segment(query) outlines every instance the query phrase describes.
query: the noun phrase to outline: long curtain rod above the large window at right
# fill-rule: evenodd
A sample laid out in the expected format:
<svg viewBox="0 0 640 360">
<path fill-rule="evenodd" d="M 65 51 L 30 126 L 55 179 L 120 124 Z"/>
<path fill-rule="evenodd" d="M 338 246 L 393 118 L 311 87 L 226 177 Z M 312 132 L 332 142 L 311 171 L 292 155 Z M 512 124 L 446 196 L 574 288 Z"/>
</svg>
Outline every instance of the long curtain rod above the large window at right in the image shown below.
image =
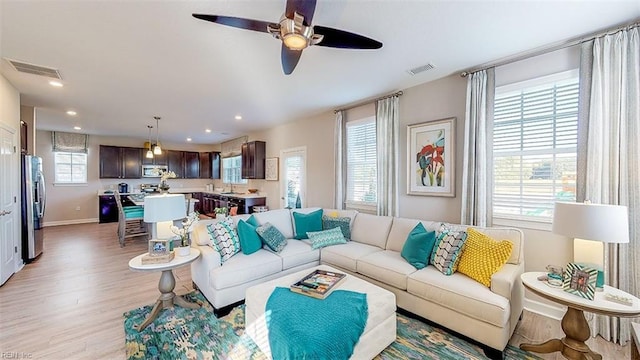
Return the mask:
<svg viewBox="0 0 640 360">
<path fill-rule="evenodd" d="M 542 46 L 542 47 L 538 47 L 535 48 L 533 50 L 530 51 L 526 51 L 520 54 L 516 54 L 513 56 L 508 56 L 502 59 L 498 59 L 496 61 L 493 62 L 489 62 L 486 63 L 484 65 L 480 65 L 478 67 L 475 68 L 471 68 L 470 70 L 466 70 L 460 73 L 460 76 L 462 77 L 467 77 L 469 74 L 473 74 L 476 71 L 480 71 L 480 70 L 486 70 L 492 67 L 498 67 L 498 66 L 502 66 L 502 65 L 507 65 L 516 61 L 520 61 L 520 60 L 524 60 L 524 59 L 528 59 L 534 56 L 538 56 L 538 55 L 542 55 L 542 54 L 546 54 L 552 51 L 556 51 L 556 50 L 560 50 L 560 49 L 564 49 L 570 46 L 574 46 L 574 45 L 578 45 L 580 43 L 583 43 L 585 41 L 590 41 L 593 40 L 595 38 L 601 37 L 601 36 L 605 36 L 605 35 L 609 35 L 609 34 L 613 34 L 616 33 L 620 30 L 630 30 L 633 29 L 634 27 L 640 26 L 640 19 L 636 19 L 626 25 L 622 25 L 622 26 L 618 26 L 616 28 L 613 29 L 609 29 L 606 31 L 599 31 L 596 33 L 591 33 L 587 36 L 581 36 L 578 38 L 573 38 L 567 41 L 561 41 L 561 42 L 557 42 L 551 45 L 547 45 L 547 46 Z"/>
</svg>

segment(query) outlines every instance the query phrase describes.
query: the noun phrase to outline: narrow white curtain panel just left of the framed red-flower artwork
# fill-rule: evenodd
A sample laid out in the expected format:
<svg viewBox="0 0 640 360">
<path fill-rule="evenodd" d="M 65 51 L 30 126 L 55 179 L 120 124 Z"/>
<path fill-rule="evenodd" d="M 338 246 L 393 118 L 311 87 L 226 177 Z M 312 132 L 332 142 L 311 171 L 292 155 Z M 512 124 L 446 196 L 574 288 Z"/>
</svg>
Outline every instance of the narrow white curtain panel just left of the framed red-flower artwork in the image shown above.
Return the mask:
<svg viewBox="0 0 640 360">
<path fill-rule="evenodd" d="M 378 215 L 398 216 L 398 95 L 376 101 Z"/>
</svg>

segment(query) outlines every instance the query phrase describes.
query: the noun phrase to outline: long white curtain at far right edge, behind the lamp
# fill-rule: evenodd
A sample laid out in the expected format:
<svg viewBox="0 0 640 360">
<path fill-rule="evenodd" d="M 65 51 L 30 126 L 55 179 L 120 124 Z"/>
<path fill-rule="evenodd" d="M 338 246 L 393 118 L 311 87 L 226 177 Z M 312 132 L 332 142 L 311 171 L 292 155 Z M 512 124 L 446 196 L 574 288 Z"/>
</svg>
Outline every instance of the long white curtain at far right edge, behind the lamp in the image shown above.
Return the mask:
<svg viewBox="0 0 640 360">
<path fill-rule="evenodd" d="M 585 198 L 629 208 L 629 243 L 605 246 L 605 283 L 640 296 L 638 28 L 594 39 L 592 54 Z M 596 315 L 589 325 L 592 336 L 620 344 L 629 340 L 629 318 Z"/>
</svg>

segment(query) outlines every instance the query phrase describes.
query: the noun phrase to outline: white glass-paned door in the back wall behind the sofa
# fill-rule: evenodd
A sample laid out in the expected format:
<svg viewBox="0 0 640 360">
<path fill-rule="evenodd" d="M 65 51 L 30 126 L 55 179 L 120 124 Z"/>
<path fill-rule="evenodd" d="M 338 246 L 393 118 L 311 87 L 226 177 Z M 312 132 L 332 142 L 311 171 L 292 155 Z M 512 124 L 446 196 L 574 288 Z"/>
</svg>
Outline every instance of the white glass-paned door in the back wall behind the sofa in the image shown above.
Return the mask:
<svg viewBox="0 0 640 360">
<path fill-rule="evenodd" d="M 307 199 L 307 147 L 280 151 L 280 205 L 305 207 Z"/>
</svg>

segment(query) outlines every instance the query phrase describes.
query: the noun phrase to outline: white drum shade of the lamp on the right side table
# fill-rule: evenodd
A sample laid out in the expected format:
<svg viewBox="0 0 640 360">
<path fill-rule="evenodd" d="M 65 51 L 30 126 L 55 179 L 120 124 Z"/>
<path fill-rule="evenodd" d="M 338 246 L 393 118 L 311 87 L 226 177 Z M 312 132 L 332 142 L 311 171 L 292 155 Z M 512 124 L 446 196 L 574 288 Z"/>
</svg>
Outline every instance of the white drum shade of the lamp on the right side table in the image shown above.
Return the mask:
<svg viewBox="0 0 640 360">
<path fill-rule="evenodd" d="M 553 209 L 552 231 L 571 238 L 606 243 L 628 243 L 627 207 L 557 202 Z"/>
</svg>

